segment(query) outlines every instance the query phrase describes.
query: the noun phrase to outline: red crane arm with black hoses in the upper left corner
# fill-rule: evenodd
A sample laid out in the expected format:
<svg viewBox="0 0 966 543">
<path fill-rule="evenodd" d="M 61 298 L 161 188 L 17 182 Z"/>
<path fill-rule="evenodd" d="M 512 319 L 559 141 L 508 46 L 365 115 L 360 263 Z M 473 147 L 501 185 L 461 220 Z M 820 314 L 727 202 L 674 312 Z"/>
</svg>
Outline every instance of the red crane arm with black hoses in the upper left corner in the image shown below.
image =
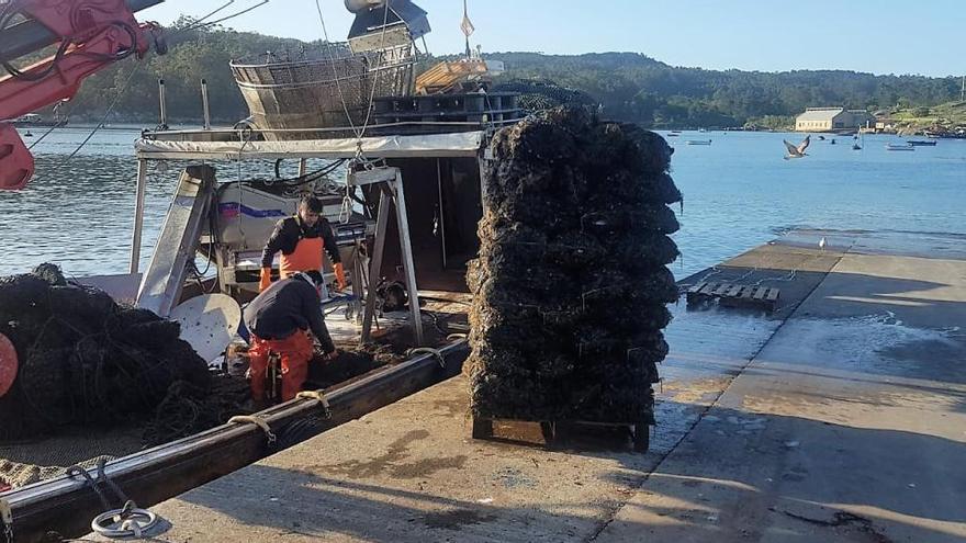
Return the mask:
<svg viewBox="0 0 966 543">
<path fill-rule="evenodd" d="M 162 1 L 0 0 L 0 65 L 7 73 L 0 78 L 0 120 L 69 100 L 85 78 L 128 56 L 143 58 L 151 44 L 165 54 L 160 27 L 134 19 L 134 12 Z M 11 25 L 14 20 L 20 22 Z M 36 64 L 11 64 L 55 44 L 56 53 Z M 0 122 L 0 190 L 24 188 L 33 172 L 20 134 Z"/>
</svg>

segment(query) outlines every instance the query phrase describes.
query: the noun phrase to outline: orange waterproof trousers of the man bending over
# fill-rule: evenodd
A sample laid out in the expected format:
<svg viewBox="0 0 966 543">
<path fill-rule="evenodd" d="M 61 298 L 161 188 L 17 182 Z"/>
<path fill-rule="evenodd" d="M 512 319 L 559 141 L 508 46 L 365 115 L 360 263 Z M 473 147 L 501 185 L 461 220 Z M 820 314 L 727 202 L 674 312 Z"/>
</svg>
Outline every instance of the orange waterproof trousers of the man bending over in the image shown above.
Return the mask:
<svg viewBox="0 0 966 543">
<path fill-rule="evenodd" d="M 313 354 L 312 338 L 304 330 L 297 330 L 285 339 L 266 340 L 252 335 L 251 349 L 248 350 L 251 397 L 259 401 L 265 398 L 269 351 L 274 351 L 282 358 L 282 401 L 288 401 L 299 394 L 308 377 L 308 361 Z"/>
</svg>

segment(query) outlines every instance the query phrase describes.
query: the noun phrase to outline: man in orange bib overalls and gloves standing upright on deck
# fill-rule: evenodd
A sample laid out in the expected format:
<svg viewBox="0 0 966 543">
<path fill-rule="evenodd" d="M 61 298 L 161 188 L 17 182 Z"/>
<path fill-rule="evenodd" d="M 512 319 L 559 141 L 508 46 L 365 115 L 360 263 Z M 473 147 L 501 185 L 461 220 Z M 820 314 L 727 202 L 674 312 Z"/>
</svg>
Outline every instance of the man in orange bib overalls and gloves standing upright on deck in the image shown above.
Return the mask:
<svg viewBox="0 0 966 543">
<path fill-rule="evenodd" d="M 279 278 L 285 279 L 295 272 L 323 270 L 323 252 L 328 252 L 336 272 L 339 290 L 346 287 L 346 272 L 328 220 L 322 216 L 322 201 L 306 195 L 299 203 L 299 213 L 283 218 L 261 251 L 261 278 L 258 290 L 265 291 L 271 284 L 271 265 L 276 253 L 282 251 L 279 262 Z"/>
</svg>

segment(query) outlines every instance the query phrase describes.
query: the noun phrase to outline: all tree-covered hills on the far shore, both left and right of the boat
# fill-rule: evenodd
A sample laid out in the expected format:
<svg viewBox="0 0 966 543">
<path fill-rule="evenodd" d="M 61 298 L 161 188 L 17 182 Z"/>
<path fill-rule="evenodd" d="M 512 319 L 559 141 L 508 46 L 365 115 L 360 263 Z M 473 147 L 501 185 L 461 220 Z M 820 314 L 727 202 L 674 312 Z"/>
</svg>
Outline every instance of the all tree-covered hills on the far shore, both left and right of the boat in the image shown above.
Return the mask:
<svg viewBox="0 0 966 543">
<path fill-rule="evenodd" d="M 168 31 L 170 52 L 142 63 L 119 63 L 85 83 L 68 106 L 74 118 L 96 120 L 115 102 L 110 121 L 157 120 L 157 80 L 167 83 L 169 117 L 199 122 L 200 81 L 209 82 L 212 116 L 222 123 L 248 115 L 228 63 L 251 54 L 311 46 L 296 39 L 194 29 L 182 18 Z M 889 110 L 928 108 L 957 100 L 956 78 L 873 76 L 853 71 L 715 71 L 679 68 L 633 53 L 577 56 L 496 53 L 487 58 L 506 64 L 507 79 L 535 78 L 581 90 L 602 104 L 609 118 L 651 127 L 778 127 L 808 106 L 845 105 Z M 424 58 L 429 66 L 437 58 Z"/>
</svg>

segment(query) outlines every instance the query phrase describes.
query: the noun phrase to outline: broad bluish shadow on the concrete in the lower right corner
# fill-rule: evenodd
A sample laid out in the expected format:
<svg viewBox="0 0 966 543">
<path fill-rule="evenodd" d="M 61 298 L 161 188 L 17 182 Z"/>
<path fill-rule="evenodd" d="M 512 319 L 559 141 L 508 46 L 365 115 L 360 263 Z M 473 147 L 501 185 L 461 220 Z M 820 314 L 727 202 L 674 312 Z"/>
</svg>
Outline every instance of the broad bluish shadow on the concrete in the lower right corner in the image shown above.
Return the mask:
<svg viewBox="0 0 966 543">
<path fill-rule="evenodd" d="M 856 541 L 892 541 L 896 530 L 912 534 L 901 541 L 962 541 L 929 524 L 966 532 L 964 457 L 966 443 L 936 435 L 716 407 L 597 541 L 633 531 L 674 541 L 682 524 L 706 532 L 687 541 L 757 541 L 779 524 L 789 540 L 821 529 L 865 535 Z"/>
</svg>

